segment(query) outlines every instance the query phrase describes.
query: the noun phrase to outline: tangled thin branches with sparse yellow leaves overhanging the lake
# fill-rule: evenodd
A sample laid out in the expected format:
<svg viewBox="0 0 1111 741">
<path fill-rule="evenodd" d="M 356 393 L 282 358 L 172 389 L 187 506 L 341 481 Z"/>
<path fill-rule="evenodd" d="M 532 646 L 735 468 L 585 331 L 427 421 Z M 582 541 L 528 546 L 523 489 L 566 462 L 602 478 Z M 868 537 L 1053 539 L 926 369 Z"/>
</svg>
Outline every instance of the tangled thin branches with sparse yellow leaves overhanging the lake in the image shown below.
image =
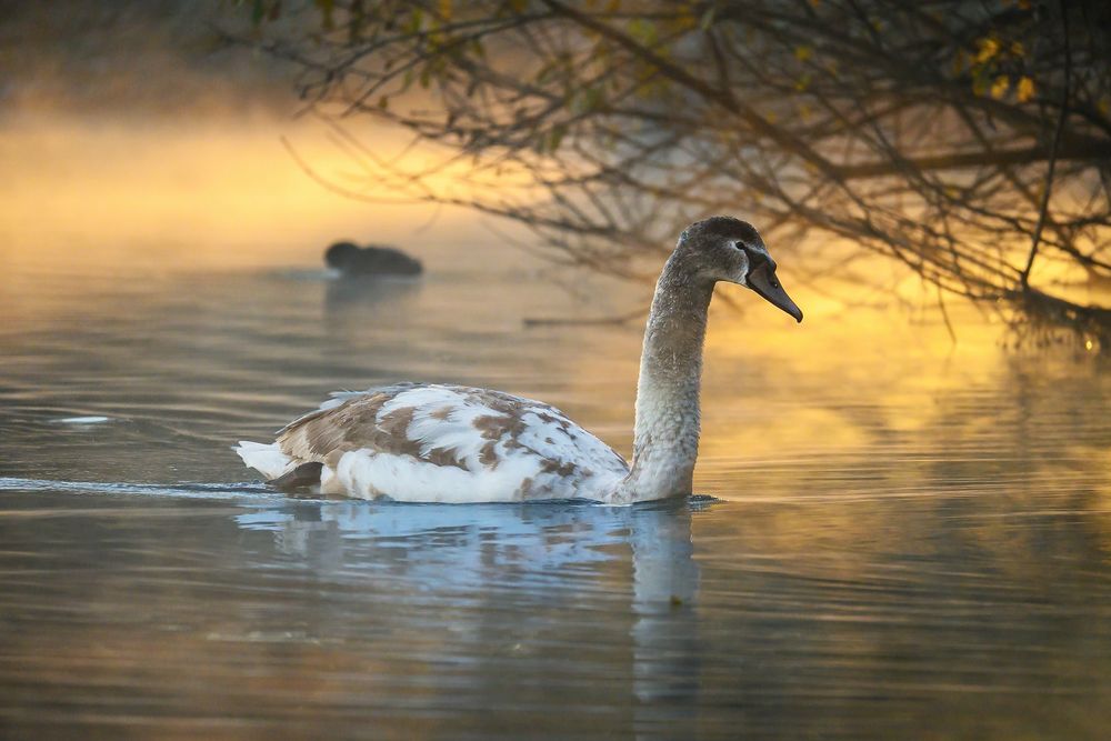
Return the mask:
<svg viewBox="0 0 1111 741">
<path fill-rule="evenodd" d="M 795 272 L 867 250 L 939 297 L 1111 322 L 1051 282 L 1111 279 L 1104 2 L 247 4 L 369 179 L 516 219 L 553 259 L 637 277 L 682 224 L 735 213 L 803 250 Z M 352 114 L 446 161 L 383 161 Z"/>
</svg>

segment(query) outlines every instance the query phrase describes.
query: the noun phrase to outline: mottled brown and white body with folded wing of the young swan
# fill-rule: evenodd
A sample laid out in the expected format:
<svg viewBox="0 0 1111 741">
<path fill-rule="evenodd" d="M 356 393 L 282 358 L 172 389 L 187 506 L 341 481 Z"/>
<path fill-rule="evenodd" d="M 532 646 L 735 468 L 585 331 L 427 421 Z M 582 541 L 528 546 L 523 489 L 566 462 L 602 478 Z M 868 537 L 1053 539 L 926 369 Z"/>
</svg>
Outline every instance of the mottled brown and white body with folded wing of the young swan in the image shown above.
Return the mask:
<svg viewBox="0 0 1111 741">
<path fill-rule="evenodd" d="M 322 483 L 420 501 L 588 497 L 628 472 L 558 409 L 499 391 L 399 384 L 344 394 L 278 435 Z"/>
</svg>

